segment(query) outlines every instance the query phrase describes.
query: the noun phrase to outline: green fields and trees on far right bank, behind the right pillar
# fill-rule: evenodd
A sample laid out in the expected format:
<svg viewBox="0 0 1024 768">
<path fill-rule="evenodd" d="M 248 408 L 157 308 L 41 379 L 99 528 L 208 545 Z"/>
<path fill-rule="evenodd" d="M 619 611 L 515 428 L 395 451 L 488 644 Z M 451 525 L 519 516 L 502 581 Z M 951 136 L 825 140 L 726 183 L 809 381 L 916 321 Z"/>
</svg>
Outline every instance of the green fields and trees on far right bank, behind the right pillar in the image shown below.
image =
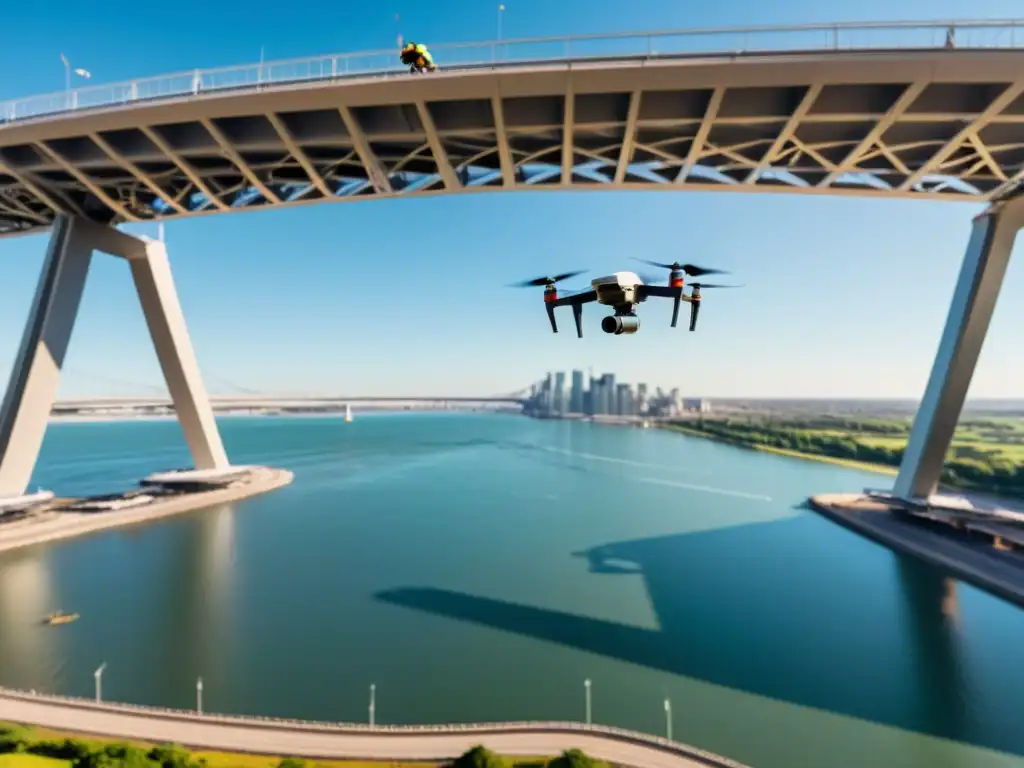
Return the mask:
<svg viewBox="0 0 1024 768">
<path fill-rule="evenodd" d="M 693 419 L 672 422 L 678 431 L 753 449 L 898 467 L 909 419 L 816 416 Z M 942 482 L 950 487 L 1024 498 L 1024 419 L 975 418 L 959 423 L 946 456 Z"/>
</svg>

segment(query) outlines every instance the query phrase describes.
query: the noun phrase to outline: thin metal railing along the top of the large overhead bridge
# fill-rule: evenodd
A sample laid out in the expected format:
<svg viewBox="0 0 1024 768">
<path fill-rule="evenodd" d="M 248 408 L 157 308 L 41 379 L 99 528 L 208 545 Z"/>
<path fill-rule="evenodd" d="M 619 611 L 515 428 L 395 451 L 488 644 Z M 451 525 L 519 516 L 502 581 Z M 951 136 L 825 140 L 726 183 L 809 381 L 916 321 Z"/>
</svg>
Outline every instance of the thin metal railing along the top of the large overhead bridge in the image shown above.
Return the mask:
<svg viewBox="0 0 1024 768">
<path fill-rule="evenodd" d="M 1024 47 L 1024 19 L 880 22 L 667 30 L 613 35 L 522 38 L 430 46 L 442 70 L 593 58 L 748 54 L 819 50 L 912 50 Z M 79 110 L 225 90 L 352 77 L 403 75 L 397 50 L 333 53 L 311 58 L 193 70 L 0 102 L 0 124 Z"/>
</svg>

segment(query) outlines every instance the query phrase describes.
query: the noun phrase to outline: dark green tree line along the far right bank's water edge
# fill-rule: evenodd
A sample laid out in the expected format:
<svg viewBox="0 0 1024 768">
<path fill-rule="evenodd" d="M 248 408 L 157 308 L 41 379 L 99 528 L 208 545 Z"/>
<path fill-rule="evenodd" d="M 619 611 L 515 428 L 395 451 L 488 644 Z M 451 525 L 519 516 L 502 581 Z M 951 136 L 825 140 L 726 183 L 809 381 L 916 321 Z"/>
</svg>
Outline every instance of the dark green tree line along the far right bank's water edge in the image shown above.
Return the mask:
<svg viewBox="0 0 1024 768">
<path fill-rule="evenodd" d="M 830 435 L 804 431 L 809 427 L 803 424 L 812 422 L 779 424 L 698 419 L 677 423 L 686 429 L 742 445 L 765 445 L 892 467 L 898 467 L 903 460 L 902 447 L 867 445 L 852 433 Z M 817 428 L 837 429 L 835 426 Z M 943 483 L 999 496 L 1024 497 L 1024 464 L 1012 462 L 995 451 L 983 451 L 971 445 L 956 446 L 951 454 L 942 470 Z"/>
</svg>

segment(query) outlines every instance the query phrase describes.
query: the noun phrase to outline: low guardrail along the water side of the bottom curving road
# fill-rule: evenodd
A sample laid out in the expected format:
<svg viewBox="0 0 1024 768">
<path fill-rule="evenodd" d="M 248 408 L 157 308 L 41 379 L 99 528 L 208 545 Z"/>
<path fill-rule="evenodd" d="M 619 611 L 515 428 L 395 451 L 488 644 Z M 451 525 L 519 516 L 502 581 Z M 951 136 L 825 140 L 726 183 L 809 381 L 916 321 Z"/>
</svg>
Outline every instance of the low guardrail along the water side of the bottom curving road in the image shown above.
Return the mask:
<svg viewBox="0 0 1024 768">
<path fill-rule="evenodd" d="M 743 765 L 723 758 L 720 755 L 698 750 L 695 746 L 672 741 L 663 736 L 640 733 L 613 725 L 594 725 L 589 723 L 573 723 L 564 721 L 519 721 L 505 723 L 439 723 L 424 725 L 368 725 L 365 723 L 330 723 L 316 720 L 298 720 L 291 718 L 275 718 L 264 715 L 200 715 L 190 710 L 177 710 L 170 707 L 148 707 L 122 702 L 98 702 L 77 696 L 67 696 L 57 693 L 37 693 L 11 688 L 0 688 L 0 696 L 7 698 L 48 702 L 80 710 L 110 712 L 112 714 L 127 714 L 138 717 L 164 718 L 185 722 L 220 723 L 223 725 L 245 725 L 249 727 L 273 728 L 280 730 L 305 732 L 333 732 L 358 734 L 391 734 L 391 735 L 429 735 L 447 733 L 515 733 L 515 732 L 580 732 L 607 736 L 621 741 L 644 744 L 685 757 L 698 758 L 709 765 L 719 768 L 745 768 Z"/>
</svg>

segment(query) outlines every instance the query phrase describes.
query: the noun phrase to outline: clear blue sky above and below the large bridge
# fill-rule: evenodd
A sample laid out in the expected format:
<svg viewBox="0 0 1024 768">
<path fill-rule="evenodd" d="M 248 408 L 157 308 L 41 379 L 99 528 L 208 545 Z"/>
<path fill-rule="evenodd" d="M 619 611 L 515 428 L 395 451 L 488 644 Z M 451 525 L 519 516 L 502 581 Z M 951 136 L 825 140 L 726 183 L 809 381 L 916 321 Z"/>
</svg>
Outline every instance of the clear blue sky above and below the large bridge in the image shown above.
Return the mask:
<svg viewBox="0 0 1024 768">
<path fill-rule="evenodd" d="M 505 37 L 1020 14 L 1016 0 L 505 6 Z M 490 39 L 498 15 L 498 3 L 484 0 L 349 1 L 284 15 L 280 3 L 264 2 L 244 11 L 200 2 L 96 7 L 50 0 L 5 9 L 4 26 L 17 35 L 0 47 L 0 98 L 60 90 L 61 52 L 101 83 L 253 61 L 261 46 L 271 59 L 387 47 L 399 31 L 436 43 Z M 918 397 L 979 211 L 796 195 L 547 191 L 204 217 L 170 223 L 167 241 L 215 392 L 489 394 L 548 370 L 593 368 L 707 396 Z M 0 241 L 4 379 L 45 245 L 41 237 Z M 612 338 L 600 332 L 603 311 L 588 307 L 583 340 L 570 313 L 552 335 L 540 294 L 504 288 L 551 271 L 629 268 L 630 256 L 721 266 L 746 288 L 709 291 L 694 334 L 668 328 L 668 304 L 649 302 L 638 335 Z M 1022 299 L 1018 258 L 974 396 L 1024 396 Z M 98 257 L 61 393 L 160 389 L 127 267 Z"/>
</svg>

